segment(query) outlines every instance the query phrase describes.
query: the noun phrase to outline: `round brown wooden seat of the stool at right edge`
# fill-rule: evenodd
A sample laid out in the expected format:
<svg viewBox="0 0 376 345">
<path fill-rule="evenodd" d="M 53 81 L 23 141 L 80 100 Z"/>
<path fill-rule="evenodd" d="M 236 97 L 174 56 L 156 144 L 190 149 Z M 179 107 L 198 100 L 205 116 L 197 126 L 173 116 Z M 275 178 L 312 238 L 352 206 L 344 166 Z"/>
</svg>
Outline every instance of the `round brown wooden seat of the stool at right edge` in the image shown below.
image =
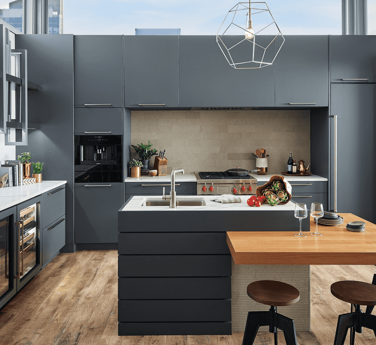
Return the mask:
<svg viewBox="0 0 376 345">
<path fill-rule="evenodd" d="M 330 290 L 341 301 L 356 305 L 376 305 L 376 286 L 364 281 L 336 281 Z"/>
</svg>

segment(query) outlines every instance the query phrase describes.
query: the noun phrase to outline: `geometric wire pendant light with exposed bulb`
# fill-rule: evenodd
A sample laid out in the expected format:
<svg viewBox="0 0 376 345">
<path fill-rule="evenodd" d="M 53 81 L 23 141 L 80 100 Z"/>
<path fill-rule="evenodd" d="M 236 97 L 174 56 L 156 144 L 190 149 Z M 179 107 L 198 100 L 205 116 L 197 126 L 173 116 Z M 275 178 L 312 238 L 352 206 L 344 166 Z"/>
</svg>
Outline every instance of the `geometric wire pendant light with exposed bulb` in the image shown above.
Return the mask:
<svg viewBox="0 0 376 345">
<path fill-rule="evenodd" d="M 233 68 L 273 64 L 285 38 L 266 2 L 240 2 L 227 13 L 217 43 Z"/>
</svg>

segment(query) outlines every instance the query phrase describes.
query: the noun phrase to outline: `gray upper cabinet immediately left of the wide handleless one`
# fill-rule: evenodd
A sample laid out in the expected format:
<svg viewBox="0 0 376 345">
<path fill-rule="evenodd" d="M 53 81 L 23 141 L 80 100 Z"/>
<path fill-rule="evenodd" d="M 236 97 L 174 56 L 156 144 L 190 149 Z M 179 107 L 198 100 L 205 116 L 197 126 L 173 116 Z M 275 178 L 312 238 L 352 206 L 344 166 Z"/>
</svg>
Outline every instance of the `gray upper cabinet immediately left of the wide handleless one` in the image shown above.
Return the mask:
<svg viewBox="0 0 376 345">
<path fill-rule="evenodd" d="M 179 106 L 178 39 L 178 36 L 124 36 L 126 108 Z"/>
</svg>

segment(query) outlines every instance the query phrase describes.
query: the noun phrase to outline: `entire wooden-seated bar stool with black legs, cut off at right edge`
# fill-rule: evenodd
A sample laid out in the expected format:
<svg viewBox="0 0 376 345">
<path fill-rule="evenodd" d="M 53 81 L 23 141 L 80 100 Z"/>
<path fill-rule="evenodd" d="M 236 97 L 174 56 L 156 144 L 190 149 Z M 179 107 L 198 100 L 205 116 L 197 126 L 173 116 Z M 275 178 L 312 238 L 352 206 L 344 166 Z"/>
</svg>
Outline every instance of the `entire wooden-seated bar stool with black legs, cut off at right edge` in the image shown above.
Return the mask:
<svg viewBox="0 0 376 345">
<path fill-rule="evenodd" d="M 375 277 L 373 280 L 375 281 Z M 362 327 L 370 328 L 376 336 L 376 316 L 371 315 L 373 306 L 376 305 L 376 286 L 364 281 L 342 280 L 333 283 L 330 290 L 341 301 L 351 303 L 351 313 L 338 316 L 334 345 L 344 344 L 349 328 L 350 345 L 354 344 L 355 332 L 362 333 Z M 360 309 L 361 305 L 367 305 L 365 313 Z"/>
</svg>

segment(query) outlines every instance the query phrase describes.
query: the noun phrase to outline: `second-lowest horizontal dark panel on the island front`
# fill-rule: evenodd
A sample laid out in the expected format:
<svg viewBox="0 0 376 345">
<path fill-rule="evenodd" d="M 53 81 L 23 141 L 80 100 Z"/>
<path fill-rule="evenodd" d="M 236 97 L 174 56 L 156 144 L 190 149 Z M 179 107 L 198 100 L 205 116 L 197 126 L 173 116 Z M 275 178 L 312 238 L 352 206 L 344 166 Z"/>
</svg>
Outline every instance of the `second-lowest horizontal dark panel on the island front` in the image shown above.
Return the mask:
<svg viewBox="0 0 376 345">
<path fill-rule="evenodd" d="M 118 302 L 119 322 L 231 321 L 230 299 Z"/>
</svg>

